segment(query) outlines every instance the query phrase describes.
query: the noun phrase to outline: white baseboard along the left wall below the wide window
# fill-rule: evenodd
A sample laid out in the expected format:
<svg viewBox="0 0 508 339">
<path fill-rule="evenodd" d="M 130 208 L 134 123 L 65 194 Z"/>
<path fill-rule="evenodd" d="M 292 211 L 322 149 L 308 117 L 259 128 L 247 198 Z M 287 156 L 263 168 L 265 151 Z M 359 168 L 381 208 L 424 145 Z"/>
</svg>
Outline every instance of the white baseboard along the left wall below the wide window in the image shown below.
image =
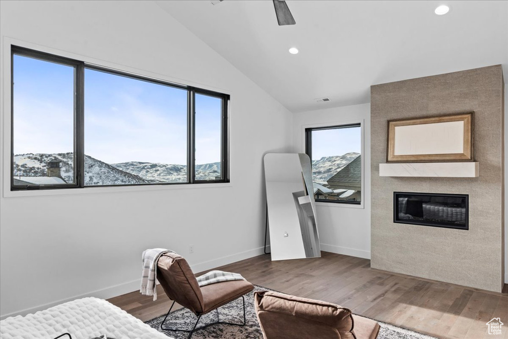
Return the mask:
<svg viewBox="0 0 508 339">
<path fill-rule="evenodd" d="M 269 248 L 269 246 L 267 246 L 267 247 Z M 264 254 L 264 247 L 260 247 L 260 248 L 257 248 L 257 249 L 253 249 L 253 250 L 249 250 L 249 251 L 244 251 L 244 252 L 232 254 L 232 255 L 229 255 L 229 256 L 225 256 L 225 257 L 220 257 L 220 258 L 217 258 L 217 259 L 212 259 L 212 260 L 205 261 L 205 262 L 202 262 L 202 263 L 199 263 L 199 264 L 190 265 L 190 267 L 192 268 L 192 270 L 194 272 L 202 272 L 202 271 L 205 271 L 205 270 L 208 270 L 208 269 L 211 269 L 211 268 L 215 268 L 215 267 L 218 267 L 218 266 L 223 266 L 223 265 L 231 264 L 233 262 L 240 261 L 240 260 L 243 260 L 243 259 L 248 259 L 248 258 L 251 258 L 251 257 L 256 257 L 256 256 L 259 256 L 261 254 Z M 97 290 L 97 291 L 91 291 L 91 292 L 88 292 L 88 293 L 75 295 L 75 296 L 70 297 L 70 298 L 56 300 L 56 301 L 49 302 L 49 303 L 46 303 L 46 304 L 43 304 L 43 305 L 38 305 L 38 306 L 35 306 L 35 307 L 30 307 L 29 309 L 20 310 L 20 311 L 8 313 L 8 314 L 0 315 L 0 320 L 3 320 L 5 318 L 7 318 L 7 317 L 14 317 L 14 316 L 17 316 L 17 315 L 25 316 L 25 315 L 27 315 L 29 313 L 35 313 L 37 311 L 46 310 L 48 307 L 52 307 L 52 306 L 61 304 L 63 302 L 72 301 L 72 300 L 79 299 L 79 298 L 96 297 L 96 298 L 101 298 L 101 299 L 109 299 L 109 298 L 112 298 L 112 297 L 115 297 L 115 296 L 118 296 L 118 295 L 122 295 L 122 294 L 125 294 L 125 293 L 130 293 L 130 292 L 139 290 L 140 283 L 141 283 L 141 279 L 136 279 L 136 280 L 133 280 L 131 282 L 123 283 L 123 284 L 120 284 L 120 285 L 110 286 L 110 287 L 107 287 L 105 289 L 101 289 L 101 290 Z"/>
</svg>

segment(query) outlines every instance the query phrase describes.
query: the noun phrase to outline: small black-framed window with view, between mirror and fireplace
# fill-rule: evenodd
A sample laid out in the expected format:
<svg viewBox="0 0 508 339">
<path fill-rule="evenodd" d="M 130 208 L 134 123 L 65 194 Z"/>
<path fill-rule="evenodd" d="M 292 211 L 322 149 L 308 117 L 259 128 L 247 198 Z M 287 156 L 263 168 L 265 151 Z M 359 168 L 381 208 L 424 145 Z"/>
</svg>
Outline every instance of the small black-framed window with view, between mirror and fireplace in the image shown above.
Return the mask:
<svg viewBox="0 0 508 339">
<path fill-rule="evenodd" d="M 360 124 L 305 129 L 305 152 L 312 164 L 316 201 L 362 202 L 361 149 Z"/>
</svg>

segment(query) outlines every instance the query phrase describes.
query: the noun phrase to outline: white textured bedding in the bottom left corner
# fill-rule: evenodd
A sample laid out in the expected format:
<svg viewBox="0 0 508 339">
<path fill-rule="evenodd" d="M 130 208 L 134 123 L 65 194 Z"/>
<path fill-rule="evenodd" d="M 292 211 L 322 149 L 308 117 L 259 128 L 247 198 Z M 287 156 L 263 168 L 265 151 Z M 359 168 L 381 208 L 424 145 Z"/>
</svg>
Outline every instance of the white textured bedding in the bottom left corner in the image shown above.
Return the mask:
<svg viewBox="0 0 508 339">
<path fill-rule="evenodd" d="M 77 299 L 24 317 L 0 321 L 2 339 L 53 339 L 65 332 L 73 339 L 90 339 L 102 334 L 115 339 L 171 339 L 98 298 Z"/>
</svg>

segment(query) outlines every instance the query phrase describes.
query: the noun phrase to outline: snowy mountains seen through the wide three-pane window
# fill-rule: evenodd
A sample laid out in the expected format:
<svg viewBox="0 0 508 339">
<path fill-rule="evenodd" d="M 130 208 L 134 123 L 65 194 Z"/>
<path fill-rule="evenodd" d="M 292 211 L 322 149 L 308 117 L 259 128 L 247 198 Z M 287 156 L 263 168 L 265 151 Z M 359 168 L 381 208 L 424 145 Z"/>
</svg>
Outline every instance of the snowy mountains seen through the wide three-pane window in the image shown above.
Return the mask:
<svg viewBox="0 0 508 339">
<path fill-rule="evenodd" d="M 47 163 L 60 161 L 61 177 L 67 182 L 74 179 L 73 153 L 28 153 L 14 156 L 16 176 L 46 176 Z M 220 163 L 196 165 L 196 179 L 215 179 L 220 176 Z M 85 186 L 142 184 L 156 182 L 186 182 L 187 166 L 126 162 L 106 164 L 85 155 Z"/>
</svg>

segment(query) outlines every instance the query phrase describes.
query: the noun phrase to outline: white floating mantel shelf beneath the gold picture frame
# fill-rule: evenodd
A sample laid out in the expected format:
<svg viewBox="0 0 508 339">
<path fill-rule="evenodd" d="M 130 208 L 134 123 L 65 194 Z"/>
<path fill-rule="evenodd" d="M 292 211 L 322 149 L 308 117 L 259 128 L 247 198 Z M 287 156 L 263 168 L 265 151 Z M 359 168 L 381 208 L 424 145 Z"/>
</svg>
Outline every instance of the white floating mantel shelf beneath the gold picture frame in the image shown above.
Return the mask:
<svg viewBox="0 0 508 339">
<path fill-rule="evenodd" d="M 379 176 L 475 178 L 479 173 L 477 162 L 390 163 L 379 164 Z"/>
</svg>

